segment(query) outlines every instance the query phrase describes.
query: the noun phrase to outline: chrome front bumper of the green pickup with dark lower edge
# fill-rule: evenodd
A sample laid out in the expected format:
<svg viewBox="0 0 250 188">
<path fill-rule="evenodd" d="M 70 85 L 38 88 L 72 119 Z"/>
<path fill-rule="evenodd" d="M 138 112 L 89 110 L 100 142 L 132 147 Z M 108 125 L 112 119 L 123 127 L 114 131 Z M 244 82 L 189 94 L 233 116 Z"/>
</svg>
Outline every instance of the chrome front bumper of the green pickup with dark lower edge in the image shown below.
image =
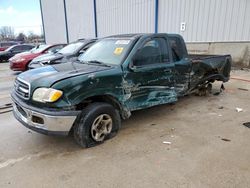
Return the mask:
<svg viewBox="0 0 250 188">
<path fill-rule="evenodd" d="M 13 114 L 25 127 L 46 135 L 67 136 L 79 111 L 30 109 L 13 100 Z"/>
</svg>

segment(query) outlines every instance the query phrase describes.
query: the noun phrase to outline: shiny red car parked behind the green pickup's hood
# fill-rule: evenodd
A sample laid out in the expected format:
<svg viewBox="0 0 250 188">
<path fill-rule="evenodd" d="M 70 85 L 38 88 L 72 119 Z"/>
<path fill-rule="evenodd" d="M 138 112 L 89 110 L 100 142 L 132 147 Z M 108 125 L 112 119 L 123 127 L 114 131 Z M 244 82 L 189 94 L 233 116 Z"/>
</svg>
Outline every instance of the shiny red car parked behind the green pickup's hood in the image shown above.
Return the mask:
<svg viewBox="0 0 250 188">
<path fill-rule="evenodd" d="M 17 54 L 9 59 L 10 69 L 14 71 L 26 71 L 28 70 L 29 63 L 34 58 L 46 53 L 55 53 L 64 46 L 65 44 L 40 45 L 38 48 L 33 48 L 28 52 Z"/>
</svg>

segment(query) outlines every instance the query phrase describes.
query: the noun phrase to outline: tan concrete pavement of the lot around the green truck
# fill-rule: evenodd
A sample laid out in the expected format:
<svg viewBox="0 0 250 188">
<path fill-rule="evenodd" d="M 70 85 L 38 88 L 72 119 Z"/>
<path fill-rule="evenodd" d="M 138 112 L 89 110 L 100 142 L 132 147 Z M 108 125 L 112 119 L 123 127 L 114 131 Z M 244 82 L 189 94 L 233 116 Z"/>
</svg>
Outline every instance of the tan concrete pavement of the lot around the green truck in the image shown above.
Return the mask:
<svg viewBox="0 0 250 188">
<path fill-rule="evenodd" d="M 14 77 L 0 64 L 0 104 Z M 249 187 L 250 72 L 232 77 L 246 80 L 231 79 L 218 96 L 134 112 L 115 138 L 89 149 L 0 114 L 0 187 Z"/>
</svg>

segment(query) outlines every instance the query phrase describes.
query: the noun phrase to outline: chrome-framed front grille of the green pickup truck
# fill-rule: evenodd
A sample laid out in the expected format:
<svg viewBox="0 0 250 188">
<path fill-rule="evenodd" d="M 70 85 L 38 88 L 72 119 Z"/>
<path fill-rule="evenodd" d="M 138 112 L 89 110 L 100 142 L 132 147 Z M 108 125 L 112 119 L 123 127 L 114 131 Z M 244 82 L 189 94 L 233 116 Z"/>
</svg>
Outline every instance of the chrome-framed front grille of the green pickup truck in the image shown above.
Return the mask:
<svg viewBox="0 0 250 188">
<path fill-rule="evenodd" d="M 29 96 L 30 96 L 29 83 L 17 78 L 14 83 L 14 88 L 18 96 L 24 99 L 29 99 Z"/>
</svg>

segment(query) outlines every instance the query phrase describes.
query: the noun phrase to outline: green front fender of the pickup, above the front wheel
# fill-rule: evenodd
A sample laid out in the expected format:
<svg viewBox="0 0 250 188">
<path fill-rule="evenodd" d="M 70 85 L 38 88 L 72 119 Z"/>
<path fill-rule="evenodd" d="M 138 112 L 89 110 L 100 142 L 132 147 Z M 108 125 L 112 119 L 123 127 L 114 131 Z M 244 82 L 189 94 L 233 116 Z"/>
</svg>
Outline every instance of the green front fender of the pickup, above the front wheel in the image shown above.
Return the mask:
<svg viewBox="0 0 250 188">
<path fill-rule="evenodd" d="M 75 77 L 62 80 L 53 88 L 63 90 L 63 98 L 57 102 L 57 107 L 75 106 L 93 96 L 110 95 L 120 103 L 123 99 L 121 86 L 122 76 L 119 72 L 89 74 L 85 77 Z"/>
</svg>

